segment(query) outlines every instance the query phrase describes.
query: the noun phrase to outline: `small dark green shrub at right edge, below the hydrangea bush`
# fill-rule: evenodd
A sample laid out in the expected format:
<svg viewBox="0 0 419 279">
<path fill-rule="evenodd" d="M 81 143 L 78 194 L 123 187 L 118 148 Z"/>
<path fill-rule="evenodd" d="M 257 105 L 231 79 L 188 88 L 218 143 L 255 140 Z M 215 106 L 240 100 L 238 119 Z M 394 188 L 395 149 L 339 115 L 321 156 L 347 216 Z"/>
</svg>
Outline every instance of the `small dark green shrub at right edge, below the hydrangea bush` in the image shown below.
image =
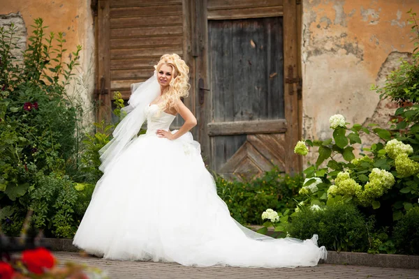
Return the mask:
<svg viewBox="0 0 419 279">
<path fill-rule="evenodd" d="M 393 230 L 397 251 L 419 255 L 419 206 L 414 206 L 399 220 Z"/>
</svg>

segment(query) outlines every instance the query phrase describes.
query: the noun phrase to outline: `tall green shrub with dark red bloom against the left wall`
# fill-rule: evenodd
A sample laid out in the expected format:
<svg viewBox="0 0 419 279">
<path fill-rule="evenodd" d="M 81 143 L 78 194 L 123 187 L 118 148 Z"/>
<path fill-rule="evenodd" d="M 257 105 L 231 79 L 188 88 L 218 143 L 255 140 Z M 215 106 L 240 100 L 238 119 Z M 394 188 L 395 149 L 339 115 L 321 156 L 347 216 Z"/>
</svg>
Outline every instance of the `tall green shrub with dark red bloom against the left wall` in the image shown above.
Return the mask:
<svg viewBox="0 0 419 279">
<path fill-rule="evenodd" d="M 78 66 L 79 52 L 66 54 L 63 33 L 45 36 L 43 20 L 35 20 L 34 35 L 23 61 L 17 49 L 15 27 L 0 28 L 0 199 L 3 206 L 24 196 L 39 171 L 61 172 L 78 156 L 78 120 L 81 104 L 65 87 Z M 54 44 L 56 43 L 56 44 Z M 54 45 L 54 46 L 53 46 Z"/>
</svg>

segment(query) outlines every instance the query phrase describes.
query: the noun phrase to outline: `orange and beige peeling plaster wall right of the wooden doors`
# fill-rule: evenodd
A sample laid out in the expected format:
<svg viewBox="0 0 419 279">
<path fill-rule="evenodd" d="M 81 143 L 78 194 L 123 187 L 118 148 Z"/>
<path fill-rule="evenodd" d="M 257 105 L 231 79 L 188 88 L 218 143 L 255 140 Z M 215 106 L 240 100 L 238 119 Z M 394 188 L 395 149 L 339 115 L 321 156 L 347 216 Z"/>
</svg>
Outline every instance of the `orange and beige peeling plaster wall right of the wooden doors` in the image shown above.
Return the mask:
<svg viewBox="0 0 419 279">
<path fill-rule="evenodd" d="M 395 105 L 370 90 L 413 51 L 408 10 L 418 0 L 304 0 L 303 137 L 331 137 L 329 117 L 385 126 Z M 368 141 L 368 139 L 365 139 Z M 307 162 L 314 157 L 307 156 Z"/>
</svg>

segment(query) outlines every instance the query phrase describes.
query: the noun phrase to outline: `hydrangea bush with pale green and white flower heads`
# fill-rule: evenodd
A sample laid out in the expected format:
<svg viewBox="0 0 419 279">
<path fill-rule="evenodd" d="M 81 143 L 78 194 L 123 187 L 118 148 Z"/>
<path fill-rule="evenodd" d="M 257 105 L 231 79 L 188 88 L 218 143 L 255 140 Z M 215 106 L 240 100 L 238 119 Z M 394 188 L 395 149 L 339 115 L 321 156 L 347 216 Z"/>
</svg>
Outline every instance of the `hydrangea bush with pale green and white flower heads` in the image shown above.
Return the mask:
<svg viewBox="0 0 419 279">
<path fill-rule="evenodd" d="M 333 115 L 331 138 L 305 141 L 308 146 L 318 146 L 318 158 L 315 165 L 304 170 L 306 179 L 300 199 L 311 206 L 352 203 L 371 214 L 390 209 L 392 216 L 388 220 L 399 220 L 406 210 L 418 205 L 419 163 L 415 160 L 419 158 L 419 146 L 408 143 L 416 141 L 416 136 L 406 140 L 399 131 L 374 124 L 349 125 L 344 116 Z M 362 133 L 375 134 L 377 142 L 362 148 L 355 158 L 353 151 L 355 145 L 362 144 Z M 335 159 L 338 154 L 341 160 Z M 381 206 L 385 209 L 379 211 Z"/>
</svg>

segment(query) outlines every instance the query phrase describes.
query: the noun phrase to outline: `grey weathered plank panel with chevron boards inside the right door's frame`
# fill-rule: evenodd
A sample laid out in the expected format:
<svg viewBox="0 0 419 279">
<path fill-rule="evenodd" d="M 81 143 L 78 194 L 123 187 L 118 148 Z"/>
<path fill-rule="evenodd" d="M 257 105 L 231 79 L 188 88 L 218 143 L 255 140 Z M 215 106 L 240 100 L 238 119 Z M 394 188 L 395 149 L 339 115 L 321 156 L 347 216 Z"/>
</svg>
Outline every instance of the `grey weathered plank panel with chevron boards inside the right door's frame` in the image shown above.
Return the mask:
<svg viewBox="0 0 419 279">
<path fill-rule="evenodd" d="M 208 21 L 212 167 L 224 176 L 286 170 L 282 27 L 282 17 Z"/>
</svg>

